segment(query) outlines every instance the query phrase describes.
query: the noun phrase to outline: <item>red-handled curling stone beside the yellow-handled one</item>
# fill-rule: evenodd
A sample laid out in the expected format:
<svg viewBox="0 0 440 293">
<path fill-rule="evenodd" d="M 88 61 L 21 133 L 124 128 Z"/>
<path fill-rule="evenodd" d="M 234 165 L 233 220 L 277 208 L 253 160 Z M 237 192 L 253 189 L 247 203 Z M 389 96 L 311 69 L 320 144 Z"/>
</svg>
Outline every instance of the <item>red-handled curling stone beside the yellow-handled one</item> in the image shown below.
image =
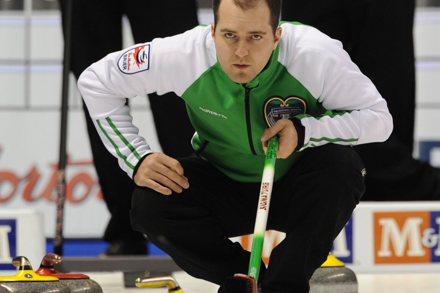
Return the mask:
<svg viewBox="0 0 440 293">
<path fill-rule="evenodd" d="M 53 267 L 61 262 L 61 256 L 55 253 L 44 255 L 40 268 L 35 271 L 42 276 L 52 276 L 60 279 L 71 293 L 102 293 L 101 286 L 83 273 L 60 273 Z"/>
</svg>

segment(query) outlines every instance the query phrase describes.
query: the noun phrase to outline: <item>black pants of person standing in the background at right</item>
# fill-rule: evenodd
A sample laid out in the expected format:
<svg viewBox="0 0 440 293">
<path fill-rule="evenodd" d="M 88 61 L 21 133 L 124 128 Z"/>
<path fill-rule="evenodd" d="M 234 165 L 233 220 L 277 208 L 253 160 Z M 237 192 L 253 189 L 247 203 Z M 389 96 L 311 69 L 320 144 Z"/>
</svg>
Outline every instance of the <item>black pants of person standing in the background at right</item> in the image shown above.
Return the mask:
<svg viewBox="0 0 440 293">
<path fill-rule="evenodd" d="M 282 20 L 312 25 L 341 41 L 387 101 L 394 124 L 390 139 L 355 147 L 368 174 L 363 200 L 440 199 L 439 169 L 412 156 L 414 8 L 414 0 L 283 1 Z"/>
</svg>

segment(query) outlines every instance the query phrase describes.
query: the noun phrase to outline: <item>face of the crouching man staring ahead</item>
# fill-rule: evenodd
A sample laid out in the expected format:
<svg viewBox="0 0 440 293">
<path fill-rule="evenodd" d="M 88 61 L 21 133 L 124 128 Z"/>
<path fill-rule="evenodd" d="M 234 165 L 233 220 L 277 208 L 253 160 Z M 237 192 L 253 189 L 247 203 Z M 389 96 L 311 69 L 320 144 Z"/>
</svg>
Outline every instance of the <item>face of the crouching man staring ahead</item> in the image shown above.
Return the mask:
<svg viewBox="0 0 440 293">
<path fill-rule="evenodd" d="M 232 0 L 222 0 L 215 32 L 214 23 L 211 31 L 221 68 L 241 84 L 252 81 L 263 70 L 281 37 L 280 27 L 273 35 L 265 1 L 242 10 Z"/>
</svg>

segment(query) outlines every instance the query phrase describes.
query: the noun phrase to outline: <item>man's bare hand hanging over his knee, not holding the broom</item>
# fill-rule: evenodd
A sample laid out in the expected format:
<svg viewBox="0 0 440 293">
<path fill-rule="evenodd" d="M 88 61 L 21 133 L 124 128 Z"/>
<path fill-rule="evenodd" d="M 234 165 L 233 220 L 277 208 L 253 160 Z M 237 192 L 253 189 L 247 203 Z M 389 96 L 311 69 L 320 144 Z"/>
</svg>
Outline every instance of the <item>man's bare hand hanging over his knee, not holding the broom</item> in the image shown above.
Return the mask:
<svg viewBox="0 0 440 293">
<path fill-rule="evenodd" d="M 134 182 L 167 195 L 189 188 L 180 163 L 162 153 L 153 153 L 145 158 L 134 176 Z"/>
</svg>

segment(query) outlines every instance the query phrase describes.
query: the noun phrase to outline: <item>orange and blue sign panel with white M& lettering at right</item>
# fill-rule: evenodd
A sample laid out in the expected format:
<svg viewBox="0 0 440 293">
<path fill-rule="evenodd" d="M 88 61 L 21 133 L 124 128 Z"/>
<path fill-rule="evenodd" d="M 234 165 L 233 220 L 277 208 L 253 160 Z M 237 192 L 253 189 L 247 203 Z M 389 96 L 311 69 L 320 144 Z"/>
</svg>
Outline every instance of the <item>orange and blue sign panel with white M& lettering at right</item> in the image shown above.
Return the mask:
<svg viewBox="0 0 440 293">
<path fill-rule="evenodd" d="M 440 211 L 374 213 L 374 263 L 440 262 Z"/>
</svg>

